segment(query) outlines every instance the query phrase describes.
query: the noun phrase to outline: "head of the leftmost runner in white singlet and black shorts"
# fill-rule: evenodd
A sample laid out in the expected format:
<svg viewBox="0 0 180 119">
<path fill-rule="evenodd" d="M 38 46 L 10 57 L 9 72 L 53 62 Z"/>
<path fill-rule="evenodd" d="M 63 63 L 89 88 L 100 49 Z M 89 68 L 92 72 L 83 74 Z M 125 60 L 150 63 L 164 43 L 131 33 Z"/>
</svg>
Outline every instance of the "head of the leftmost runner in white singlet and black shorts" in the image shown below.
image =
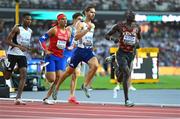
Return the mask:
<svg viewBox="0 0 180 119">
<path fill-rule="evenodd" d="M 29 27 L 32 22 L 31 15 L 29 13 L 24 13 L 22 16 L 22 22 L 23 22 L 23 25 Z"/>
</svg>

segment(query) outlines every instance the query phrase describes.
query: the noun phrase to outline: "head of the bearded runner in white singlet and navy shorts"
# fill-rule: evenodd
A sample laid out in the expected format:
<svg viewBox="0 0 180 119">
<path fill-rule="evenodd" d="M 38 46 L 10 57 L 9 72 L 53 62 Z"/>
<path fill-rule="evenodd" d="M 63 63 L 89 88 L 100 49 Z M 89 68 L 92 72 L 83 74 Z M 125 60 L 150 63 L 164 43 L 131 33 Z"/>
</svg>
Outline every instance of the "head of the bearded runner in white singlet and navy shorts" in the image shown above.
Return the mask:
<svg viewBox="0 0 180 119">
<path fill-rule="evenodd" d="M 93 20 L 96 15 L 96 10 L 94 5 L 89 5 L 83 10 L 83 14 L 90 20 Z"/>
</svg>

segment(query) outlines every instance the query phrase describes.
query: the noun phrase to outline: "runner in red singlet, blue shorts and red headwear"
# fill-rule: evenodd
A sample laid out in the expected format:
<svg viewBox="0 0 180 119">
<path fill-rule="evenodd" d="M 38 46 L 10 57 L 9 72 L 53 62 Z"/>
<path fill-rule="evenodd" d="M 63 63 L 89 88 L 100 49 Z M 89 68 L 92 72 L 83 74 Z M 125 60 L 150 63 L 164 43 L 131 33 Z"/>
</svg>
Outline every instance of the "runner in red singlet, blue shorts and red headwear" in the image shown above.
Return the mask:
<svg viewBox="0 0 180 119">
<path fill-rule="evenodd" d="M 70 32 L 66 29 L 67 18 L 64 14 L 57 16 L 57 23 L 45 35 L 40 37 L 40 44 L 46 54 L 46 78 L 52 83 L 47 96 L 43 99 L 45 104 L 53 104 L 47 99 L 51 96 L 57 81 L 65 70 L 64 65 L 64 49 L 69 45 Z M 49 39 L 49 46 L 46 41 Z"/>
</svg>

